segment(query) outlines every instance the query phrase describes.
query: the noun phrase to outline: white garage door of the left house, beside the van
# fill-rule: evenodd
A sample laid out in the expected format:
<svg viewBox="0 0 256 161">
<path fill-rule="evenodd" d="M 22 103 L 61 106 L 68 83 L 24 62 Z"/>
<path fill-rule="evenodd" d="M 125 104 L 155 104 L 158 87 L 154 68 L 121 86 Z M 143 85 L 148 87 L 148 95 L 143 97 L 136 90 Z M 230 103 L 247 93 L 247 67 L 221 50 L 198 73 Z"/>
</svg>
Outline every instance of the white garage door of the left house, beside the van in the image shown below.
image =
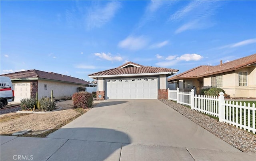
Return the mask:
<svg viewBox="0 0 256 161">
<path fill-rule="evenodd" d="M 20 102 L 22 98 L 30 98 L 30 83 L 13 83 L 14 101 Z"/>
</svg>

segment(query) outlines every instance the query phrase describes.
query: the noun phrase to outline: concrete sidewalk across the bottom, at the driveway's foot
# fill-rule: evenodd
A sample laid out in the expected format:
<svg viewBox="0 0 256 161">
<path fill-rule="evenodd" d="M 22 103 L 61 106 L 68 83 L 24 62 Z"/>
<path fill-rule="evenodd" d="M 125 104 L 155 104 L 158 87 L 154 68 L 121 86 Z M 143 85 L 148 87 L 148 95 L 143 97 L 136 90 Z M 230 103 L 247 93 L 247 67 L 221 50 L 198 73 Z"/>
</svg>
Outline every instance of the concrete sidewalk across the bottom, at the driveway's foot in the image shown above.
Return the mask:
<svg viewBox="0 0 256 161">
<path fill-rule="evenodd" d="M 52 139 L 0 136 L 1 161 L 255 161 L 256 154 L 239 151 L 220 151 L 157 145 L 137 145 Z"/>
</svg>

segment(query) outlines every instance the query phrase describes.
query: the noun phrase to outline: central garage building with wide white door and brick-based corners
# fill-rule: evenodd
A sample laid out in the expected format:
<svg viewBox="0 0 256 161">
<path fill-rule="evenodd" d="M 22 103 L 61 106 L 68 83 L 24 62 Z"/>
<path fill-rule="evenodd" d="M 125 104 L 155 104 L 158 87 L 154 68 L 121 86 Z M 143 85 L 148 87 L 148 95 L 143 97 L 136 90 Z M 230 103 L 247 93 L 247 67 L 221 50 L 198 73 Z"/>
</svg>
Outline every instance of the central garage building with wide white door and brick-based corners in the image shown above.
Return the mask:
<svg viewBox="0 0 256 161">
<path fill-rule="evenodd" d="M 167 77 L 178 70 L 128 62 L 118 68 L 89 74 L 97 81 L 97 99 L 167 98 Z"/>
</svg>

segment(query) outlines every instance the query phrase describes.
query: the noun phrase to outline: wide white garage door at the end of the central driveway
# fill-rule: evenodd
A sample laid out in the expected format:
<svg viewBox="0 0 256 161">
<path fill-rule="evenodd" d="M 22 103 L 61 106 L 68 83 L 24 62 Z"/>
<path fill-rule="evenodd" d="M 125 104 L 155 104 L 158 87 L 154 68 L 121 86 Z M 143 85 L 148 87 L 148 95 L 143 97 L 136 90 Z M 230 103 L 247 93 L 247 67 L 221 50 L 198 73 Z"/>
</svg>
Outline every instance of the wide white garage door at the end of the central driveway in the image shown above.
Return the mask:
<svg viewBox="0 0 256 161">
<path fill-rule="evenodd" d="M 105 99 L 157 99 L 157 78 L 106 80 Z"/>
</svg>

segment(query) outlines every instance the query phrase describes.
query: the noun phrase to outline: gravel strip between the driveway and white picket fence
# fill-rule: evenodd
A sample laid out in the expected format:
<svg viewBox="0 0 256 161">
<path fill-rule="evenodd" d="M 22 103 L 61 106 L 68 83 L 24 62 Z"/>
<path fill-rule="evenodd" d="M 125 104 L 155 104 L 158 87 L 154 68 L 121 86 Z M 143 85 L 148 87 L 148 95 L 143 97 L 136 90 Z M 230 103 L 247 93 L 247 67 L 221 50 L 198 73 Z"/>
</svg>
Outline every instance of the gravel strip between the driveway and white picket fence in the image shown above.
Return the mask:
<svg viewBox="0 0 256 161">
<path fill-rule="evenodd" d="M 160 101 L 237 149 L 248 153 L 256 153 L 256 135 L 244 131 L 243 129 L 236 128 L 233 125 L 219 122 L 217 119 L 211 118 L 198 111 L 191 110 L 190 108 L 173 101 L 166 99 Z"/>
</svg>

